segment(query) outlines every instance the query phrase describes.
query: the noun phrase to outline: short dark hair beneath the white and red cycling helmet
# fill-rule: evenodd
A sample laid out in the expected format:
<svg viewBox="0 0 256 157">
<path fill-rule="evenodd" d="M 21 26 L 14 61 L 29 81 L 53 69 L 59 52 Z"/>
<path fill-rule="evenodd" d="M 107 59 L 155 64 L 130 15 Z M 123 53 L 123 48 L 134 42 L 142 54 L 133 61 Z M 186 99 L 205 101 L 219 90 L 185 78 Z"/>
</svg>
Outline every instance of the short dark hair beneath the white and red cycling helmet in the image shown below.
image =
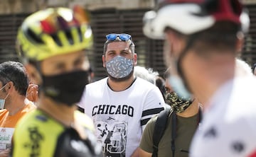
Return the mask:
<svg viewBox="0 0 256 157">
<path fill-rule="evenodd" d="M 176 30 L 166 28 L 166 31 L 168 30 L 171 30 L 178 37 L 181 37 L 186 41 L 193 38 L 193 43 L 189 49 L 194 50 L 197 54 L 204 56 L 207 55 L 208 52 L 227 51 L 235 53 L 235 45 L 238 40 L 240 25 L 229 21 L 220 21 L 215 23 L 211 28 L 193 35 L 183 35 Z"/>
</svg>

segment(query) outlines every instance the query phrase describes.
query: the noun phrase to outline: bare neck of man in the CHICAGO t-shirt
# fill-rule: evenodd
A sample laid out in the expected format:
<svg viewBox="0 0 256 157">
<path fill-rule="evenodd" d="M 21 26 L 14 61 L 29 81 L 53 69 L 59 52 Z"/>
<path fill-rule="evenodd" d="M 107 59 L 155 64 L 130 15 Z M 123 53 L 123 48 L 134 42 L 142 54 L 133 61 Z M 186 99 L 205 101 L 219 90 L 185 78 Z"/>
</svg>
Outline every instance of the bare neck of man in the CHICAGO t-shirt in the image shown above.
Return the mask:
<svg viewBox="0 0 256 157">
<path fill-rule="evenodd" d="M 107 79 L 107 83 L 113 91 L 124 91 L 132 85 L 134 81 L 134 75 L 125 81 L 112 81 L 110 78 Z"/>
</svg>

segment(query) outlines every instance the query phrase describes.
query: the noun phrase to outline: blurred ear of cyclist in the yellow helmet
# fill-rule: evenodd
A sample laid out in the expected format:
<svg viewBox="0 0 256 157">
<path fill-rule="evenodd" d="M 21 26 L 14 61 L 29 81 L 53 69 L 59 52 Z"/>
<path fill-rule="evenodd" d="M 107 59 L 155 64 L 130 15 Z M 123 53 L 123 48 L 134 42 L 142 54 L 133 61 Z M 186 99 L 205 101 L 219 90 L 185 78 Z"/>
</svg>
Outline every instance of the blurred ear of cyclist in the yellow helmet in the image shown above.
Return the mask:
<svg viewBox="0 0 256 157">
<path fill-rule="evenodd" d="M 38 69 L 36 69 L 36 67 L 33 66 L 32 64 L 26 64 L 25 68 L 28 73 L 28 79 L 31 82 L 40 85 L 42 83 L 42 78 L 41 78 L 41 74 L 39 73 Z"/>
</svg>

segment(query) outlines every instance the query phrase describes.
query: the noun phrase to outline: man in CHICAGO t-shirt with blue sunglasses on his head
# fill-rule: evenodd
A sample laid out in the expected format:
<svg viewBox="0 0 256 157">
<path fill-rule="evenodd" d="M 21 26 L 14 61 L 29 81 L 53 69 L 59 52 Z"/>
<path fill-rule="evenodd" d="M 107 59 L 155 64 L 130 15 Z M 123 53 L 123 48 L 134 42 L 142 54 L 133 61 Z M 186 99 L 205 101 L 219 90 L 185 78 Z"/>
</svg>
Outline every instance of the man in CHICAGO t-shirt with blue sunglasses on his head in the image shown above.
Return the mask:
<svg viewBox="0 0 256 157">
<path fill-rule="evenodd" d="M 95 122 L 105 156 L 139 156 L 146 122 L 164 110 L 164 98 L 154 84 L 134 76 L 131 35 L 106 37 L 102 62 L 108 77 L 88 84 L 79 105 Z"/>
</svg>

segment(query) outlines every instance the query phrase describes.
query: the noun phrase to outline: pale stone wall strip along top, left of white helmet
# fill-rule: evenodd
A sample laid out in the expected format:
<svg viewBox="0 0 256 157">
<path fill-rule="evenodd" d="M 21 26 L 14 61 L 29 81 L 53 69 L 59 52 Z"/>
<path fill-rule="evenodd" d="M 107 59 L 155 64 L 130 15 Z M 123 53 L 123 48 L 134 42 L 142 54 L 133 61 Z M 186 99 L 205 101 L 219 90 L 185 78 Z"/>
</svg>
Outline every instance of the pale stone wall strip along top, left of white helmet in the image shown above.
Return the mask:
<svg viewBox="0 0 256 157">
<path fill-rule="evenodd" d="M 75 4 L 90 10 L 97 8 L 152 8 L 154 0 L 1 0 L 0 14 L 31 13 L 50 6 L 72 7 Z"/>
</svg>

